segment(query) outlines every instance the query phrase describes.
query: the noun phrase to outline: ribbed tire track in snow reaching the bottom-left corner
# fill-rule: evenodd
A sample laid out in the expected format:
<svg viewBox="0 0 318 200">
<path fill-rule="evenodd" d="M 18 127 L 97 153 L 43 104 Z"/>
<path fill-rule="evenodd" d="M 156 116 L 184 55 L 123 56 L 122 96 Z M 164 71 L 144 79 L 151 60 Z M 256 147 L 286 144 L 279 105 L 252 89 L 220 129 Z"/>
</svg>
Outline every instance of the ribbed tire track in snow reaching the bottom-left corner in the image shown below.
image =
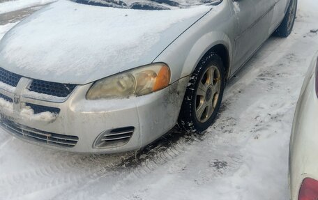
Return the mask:
<svg viewBox="0 0 318 200">
<path fill-rule="evenodd" d="M 74 161 L 80 162 L 79 166 L 81 167 L 78 168 Z M 15 199 L 23 197 L 31 191 L 47 190 L 47 188 L 59 185 L 80 185 L 86 180 L 98 178 L 100 173 L 105 171 L 105 168 L 100 165 L 95 168 L 87 166 L 87 162 L 90 160 L 76 159 L 1 176 L 0 188 L 2 192 L 0 192 L 0 196 L 7 197 L 6 199 Z M 22 185 L 23 187 L 21 187 Z M 20 190 L 16 192 L 10 190 L 12 188 L 20 188 Z"/>
</svg>

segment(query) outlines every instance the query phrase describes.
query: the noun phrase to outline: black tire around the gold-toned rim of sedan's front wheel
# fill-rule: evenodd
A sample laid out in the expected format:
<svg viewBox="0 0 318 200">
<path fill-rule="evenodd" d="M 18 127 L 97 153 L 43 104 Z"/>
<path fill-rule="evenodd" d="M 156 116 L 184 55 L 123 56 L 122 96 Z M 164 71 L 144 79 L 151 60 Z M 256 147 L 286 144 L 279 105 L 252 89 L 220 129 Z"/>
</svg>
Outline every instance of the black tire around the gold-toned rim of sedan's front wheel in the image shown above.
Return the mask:
<svg viewBox="0 0 318 200">
<path fill-rule="evenodd" d="M 200 104 L 200 102 L 198 103 L 197 93 L 198 93 L 200 82 L 203 83 L 204 76 L 205 77 L 208 76 L 207 70 L 209 70 L 211 68 L 213 68 L 213 72 L 210 72 L 210 74 L 213 73 L 213 81 L 212 82 L 215 82 L 215 78 L 214 78 L 215 75 L 214 74 L 217 73 L 216 68 L 219 71 L 220 78 L 218 78 L 218 80 L 220 79 L 220 82 L 218 82 L 218 83 L 215 82 L 215 88 L 216 88 L 216 85 L 220 84 L 220 86 L 218 86 L 220 91 L 218 92 L 218 100 L 215 100 L 216 93 L 215 93 L 214 89 L 213 89 L 213 92 L 211 92 L 214 94 L 209 95 L 210 98 L 213 98 L 212 100 L 210 99 L 211 106 L 213 105 L 211 107 L 211 108 L 213 108 L 213 111 L 208 111 L 211 108 L 206 107 L 206 109 L 207 109 L 206 115 L 207 115 L 207 113 L 209 113 L 209 114 L 212 113 L 212 114 L 210 117 L 206 116 L 206 119 L 204 119 L 204 122 L 202 122 L 202 119 L 199 119 L 197 117 L 197 106 Z M 207 82 L 207 81 L 205 80 L 205 82 Z M 211 82 L 211 80 L 209 82 Z M 206 83 L 204 83 L 204 85 L 206 85 Z M 202 84 L 200 86 L 202 86 Z M 214 87 L 213 83 L 209 86 Z M 206 86 L 206 88 L 208 88 L 207 90 L 209 90 L 209 86 Z M 197 65 L 197 68 L 195 68 L 195 71 L 191 75 L 190 82 L 189 82 L 188 87 L 185 91 L 183 104 L 181 106 L 181 111 L 179 114 L 179 121 L 178 121 L 179 127 L 187 132 L 197 132 L 197 133 L 200 133 L 200 132 L 206 130 L 207 128 L 209 128 L 209 126 L 215 120 L 215 118 L 218 114 L 218 110 L 220 109 L 220 104 L 222 101 L 224 89 L 225 89 L 225 68 L 224 68 L 224 65 L 222 63 L 222 59 L 220 58 L 220 56 L 218 56 L 218 54 L 210 53 L 210 54 L 204 56 L 204 58 L 199 62 L 199 64 Z M 201 92 L 201 91 L 202 90 L 200 90 L 199 92 Z M 199 98 L 201 98 L 201 97 L 202 96 L 199 96 Z M 206 91 L 206 95 L 204 96 L 204 100 L 206 100 L 207 98 L 208 98 L 208 91 Z M 206 100 L 206 105 L 210 104 L 209 103 L 210 100 Z M 203 116 L 203 114 L 202 114 L 202 116 Z"/>
</svg>

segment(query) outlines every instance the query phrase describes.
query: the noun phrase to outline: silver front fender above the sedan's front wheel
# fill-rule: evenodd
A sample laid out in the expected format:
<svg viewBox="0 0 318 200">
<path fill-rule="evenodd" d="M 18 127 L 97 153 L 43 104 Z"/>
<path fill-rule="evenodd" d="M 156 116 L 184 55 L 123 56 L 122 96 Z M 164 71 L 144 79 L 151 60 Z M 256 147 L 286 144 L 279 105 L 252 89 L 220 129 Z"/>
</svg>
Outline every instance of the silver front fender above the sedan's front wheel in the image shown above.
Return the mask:
<svg viewBox="0 0 318 200">
<path fill-rule="evenodd" d="M 209 49 L 224 45 L 231 66 L 234 23 L 228 1 L 222 1 L 176 38 L 153 62 L 168 64 L 173 83 L 190 75 Z"/>
</svg>

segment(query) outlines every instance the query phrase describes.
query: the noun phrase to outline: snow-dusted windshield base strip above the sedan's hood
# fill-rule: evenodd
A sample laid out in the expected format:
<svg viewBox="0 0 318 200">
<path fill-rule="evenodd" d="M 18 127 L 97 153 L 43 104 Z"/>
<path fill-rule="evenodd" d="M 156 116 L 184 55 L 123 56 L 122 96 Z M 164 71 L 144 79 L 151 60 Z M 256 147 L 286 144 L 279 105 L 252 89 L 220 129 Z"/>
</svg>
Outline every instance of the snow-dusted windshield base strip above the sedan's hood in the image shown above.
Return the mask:
<svg viewBox="0 0 318 200">
<path fill-rule="evenodd" d="M 93 6 L 114 8 L 130 8 L 140 10 L 169 10 L 175 8 L 189 8 L 190 6 L 214 5 L 222 0 L 71 0 Z"/>
</svg>

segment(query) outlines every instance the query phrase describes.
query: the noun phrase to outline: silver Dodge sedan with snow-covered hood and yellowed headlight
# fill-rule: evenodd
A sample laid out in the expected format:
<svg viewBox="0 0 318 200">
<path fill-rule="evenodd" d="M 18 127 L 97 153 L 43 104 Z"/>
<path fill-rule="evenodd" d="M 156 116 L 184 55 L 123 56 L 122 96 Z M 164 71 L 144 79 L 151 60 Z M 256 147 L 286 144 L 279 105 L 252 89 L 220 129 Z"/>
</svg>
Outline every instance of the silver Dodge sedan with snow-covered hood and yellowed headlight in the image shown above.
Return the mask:
<svg viewBox="0 0 318 200">
<path fill-rule="evenodd" d="M 0 43 L 1 127 L 52 148 L 132 151 L 174 128 L 202 132 L 227 80 L 297 0 L 60 0 Z"/>
</svg>

